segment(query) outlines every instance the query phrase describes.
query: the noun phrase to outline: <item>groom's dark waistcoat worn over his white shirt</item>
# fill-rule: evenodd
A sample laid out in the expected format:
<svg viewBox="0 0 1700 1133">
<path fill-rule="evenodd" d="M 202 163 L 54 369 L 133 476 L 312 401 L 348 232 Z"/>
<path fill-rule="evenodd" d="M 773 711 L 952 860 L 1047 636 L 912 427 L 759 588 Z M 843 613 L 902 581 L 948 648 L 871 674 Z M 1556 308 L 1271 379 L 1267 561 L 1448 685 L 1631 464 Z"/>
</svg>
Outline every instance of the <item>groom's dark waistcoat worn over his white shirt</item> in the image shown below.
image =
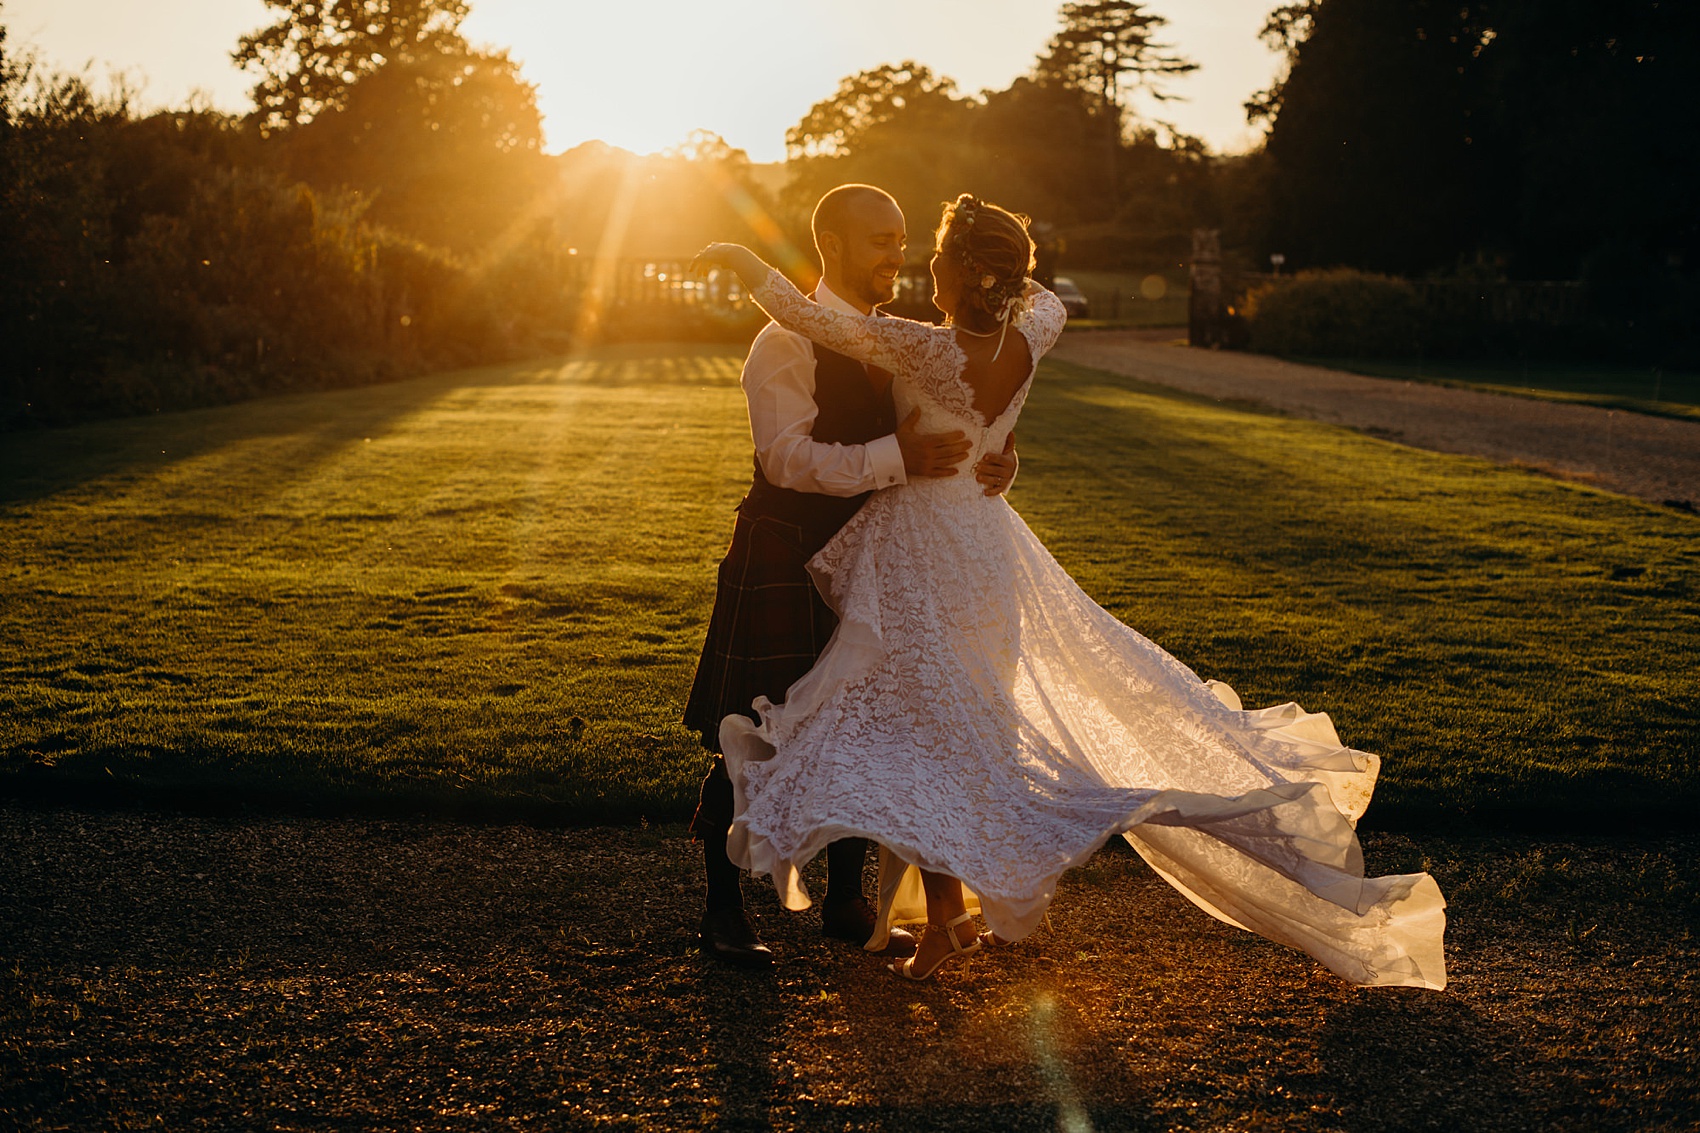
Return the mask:
<svg viewBox="0 0 1700 1133">
<path fill-rule="evenodd" d="M 819 344 L 814 347 L 814 405 L 819 413 L 809 436 L 821 444 L 867 444 L 898 429 L 891 390 L 877 393 L 862 362 Z M 850 522 L 869 495 L 872 493 L 842 497 L 780 488 L 762 475 L 758 456 L 750 495 L 738 510 L 751 519 L 767 515 L 797 524 L 804 538 L 819 549 Z"/>
</svg>

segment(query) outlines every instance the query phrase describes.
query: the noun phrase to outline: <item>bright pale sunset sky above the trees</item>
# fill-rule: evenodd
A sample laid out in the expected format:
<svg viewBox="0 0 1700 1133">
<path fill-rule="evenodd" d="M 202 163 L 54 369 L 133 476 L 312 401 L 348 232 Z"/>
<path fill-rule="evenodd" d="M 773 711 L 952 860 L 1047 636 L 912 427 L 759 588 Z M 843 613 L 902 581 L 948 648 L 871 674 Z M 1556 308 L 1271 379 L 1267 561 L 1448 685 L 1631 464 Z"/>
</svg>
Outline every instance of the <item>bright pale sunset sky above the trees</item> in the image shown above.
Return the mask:
<svg viewBox="0 0 1700 1133">
<path fill-rule="evenodd" d="M 1256 39 L 1278 0 L 1148 0 L 1164 41 L 1202 65 L 1153 116 L 1236 151 L 1256 134 L 1241 104 L 1278 58 Z M 649 153 L 712 129 L 751 160 L 784 157 L 785 129 L 858 70 L 915 60 L 967 92 L 1032 66 L 1059 0 L 473 0 L 464 31 L 510 48 L 537 83 L 551 151 L 602 138 Z M 238 36 L 267 24 L 262 0 L 0 0 L 8 48 L 60 70 L 92 65 L 143 83 L 143 104 L 192 90 L 246 109 Z M 632 24 L 638 27 L 632 27 Z M 1141 109 L 1153 111 L 1149 102 Z"/>
</svg>

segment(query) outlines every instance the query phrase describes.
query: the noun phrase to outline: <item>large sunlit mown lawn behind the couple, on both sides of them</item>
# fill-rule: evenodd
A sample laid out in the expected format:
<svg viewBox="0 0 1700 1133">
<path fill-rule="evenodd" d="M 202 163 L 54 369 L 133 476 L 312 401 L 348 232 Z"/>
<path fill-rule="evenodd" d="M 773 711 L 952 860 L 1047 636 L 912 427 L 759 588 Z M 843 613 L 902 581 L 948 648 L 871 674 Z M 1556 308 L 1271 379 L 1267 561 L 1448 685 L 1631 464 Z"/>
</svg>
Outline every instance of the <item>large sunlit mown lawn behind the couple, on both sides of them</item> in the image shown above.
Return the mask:
<svg viewBox="0 0 1700 1133">
<path fill-rule="evenodd" d="M 687 815 L 736 374 L 634 345 L 8 436 L 0 789 Z M 1382 754 L 1372 825 L 1700 801 L 1693 517 L 1066 364 L 1020 451 L 1100 602 Z"/>
</svg>

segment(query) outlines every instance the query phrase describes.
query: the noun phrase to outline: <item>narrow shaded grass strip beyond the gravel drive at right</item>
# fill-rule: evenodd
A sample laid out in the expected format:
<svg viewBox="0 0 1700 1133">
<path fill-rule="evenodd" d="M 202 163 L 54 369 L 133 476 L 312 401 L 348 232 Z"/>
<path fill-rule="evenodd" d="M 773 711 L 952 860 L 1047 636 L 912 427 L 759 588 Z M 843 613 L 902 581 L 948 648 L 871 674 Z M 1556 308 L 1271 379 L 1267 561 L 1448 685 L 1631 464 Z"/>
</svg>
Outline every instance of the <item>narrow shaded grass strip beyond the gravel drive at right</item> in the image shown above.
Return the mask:
<svg viewBox="0 0 1700 1133">
<path fill-rule="evenodd" d="M 1408 359 L 1297 359 L 1370 378 L 1402 378 L 1436 386 L 1510 393 L 1544 401 L 1700 420 L 1700 374 L 1652 366 L 1588 362 L 1450 362 Z"/>
</svg>

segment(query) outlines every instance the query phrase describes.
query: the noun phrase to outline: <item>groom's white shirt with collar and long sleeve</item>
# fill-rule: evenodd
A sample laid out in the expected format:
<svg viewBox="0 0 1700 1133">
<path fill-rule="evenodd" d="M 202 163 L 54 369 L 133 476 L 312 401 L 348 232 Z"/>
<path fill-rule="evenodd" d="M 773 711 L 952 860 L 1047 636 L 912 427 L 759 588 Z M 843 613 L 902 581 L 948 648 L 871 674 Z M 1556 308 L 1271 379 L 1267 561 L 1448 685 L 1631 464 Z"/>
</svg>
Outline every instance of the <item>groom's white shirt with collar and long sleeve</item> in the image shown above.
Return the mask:
<svg viewBox="0 0 1700 1133">
<path fill-rule="evenodd" d="M 826 281 L 814 289 L 814 301 L 860 315 Z M 814 344 L 802 335 L 768 323 L 750 347 L 740 383 L 750 403 L 750 437 L 762 475 L 774 487 L 858 495 L 906 483 L 896 434 L 867 444 L 823 444 L 809 436 L 819 410 L 814 405 Z"/>
</svg>

